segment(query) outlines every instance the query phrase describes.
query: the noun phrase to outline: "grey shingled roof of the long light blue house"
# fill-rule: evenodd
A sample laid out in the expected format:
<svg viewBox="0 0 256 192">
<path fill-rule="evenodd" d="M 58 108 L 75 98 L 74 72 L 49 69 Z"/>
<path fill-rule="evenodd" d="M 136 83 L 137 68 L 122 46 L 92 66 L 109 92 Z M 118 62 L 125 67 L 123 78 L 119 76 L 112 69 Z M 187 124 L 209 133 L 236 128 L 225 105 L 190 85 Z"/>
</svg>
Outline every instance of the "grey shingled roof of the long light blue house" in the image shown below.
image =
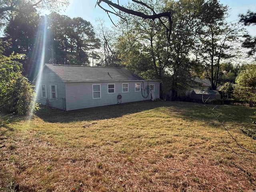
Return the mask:
<svg viewBox="0 0 256 192">
<path fill-rule="evenodd" d="M 124 68 L 45 64 L 64 82 L 144 80 Z"/>
</svg>

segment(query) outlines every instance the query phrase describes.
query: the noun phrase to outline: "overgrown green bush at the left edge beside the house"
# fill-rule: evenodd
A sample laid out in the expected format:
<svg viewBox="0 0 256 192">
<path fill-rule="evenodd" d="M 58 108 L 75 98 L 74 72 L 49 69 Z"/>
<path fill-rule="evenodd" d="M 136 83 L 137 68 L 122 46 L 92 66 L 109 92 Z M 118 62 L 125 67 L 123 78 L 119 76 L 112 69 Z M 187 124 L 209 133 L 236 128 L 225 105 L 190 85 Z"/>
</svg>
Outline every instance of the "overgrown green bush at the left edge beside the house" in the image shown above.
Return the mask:
<svg viewBox="0 0 256 192">
<path fill-rule="evenodd" d="M 28 79 L 22 76 L 23 55 L 12 53 L 9 57 L 0 55 L 0 112 L 24 115 L 31 108 L 35 97 Z"/>
</svg>

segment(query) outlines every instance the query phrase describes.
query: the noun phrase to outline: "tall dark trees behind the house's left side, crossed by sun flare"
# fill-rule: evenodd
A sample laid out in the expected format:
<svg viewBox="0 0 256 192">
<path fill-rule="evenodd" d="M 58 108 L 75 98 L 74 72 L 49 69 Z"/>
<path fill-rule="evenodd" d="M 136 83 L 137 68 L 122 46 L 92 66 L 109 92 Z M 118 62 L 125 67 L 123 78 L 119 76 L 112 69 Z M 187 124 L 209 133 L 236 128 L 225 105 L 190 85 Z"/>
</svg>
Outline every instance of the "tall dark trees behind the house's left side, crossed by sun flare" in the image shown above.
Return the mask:
<svg viewBox="0 0 256 192">
<path fill-rule="evenodd" d="M 3 54 L 25 54 L 21 61 L 23 74 L 31 80 L 36 75 L 38 57 L 43 51 L 38 48 L 43 36 L 46 37 L 45 63 L 88 65 L 92 50 L 100 47 L 92 24 L 83 18 L 70 18 L 56 12 L 46 16 L 36 12 L 19 13 L 4 29 Z"/>
</svg>

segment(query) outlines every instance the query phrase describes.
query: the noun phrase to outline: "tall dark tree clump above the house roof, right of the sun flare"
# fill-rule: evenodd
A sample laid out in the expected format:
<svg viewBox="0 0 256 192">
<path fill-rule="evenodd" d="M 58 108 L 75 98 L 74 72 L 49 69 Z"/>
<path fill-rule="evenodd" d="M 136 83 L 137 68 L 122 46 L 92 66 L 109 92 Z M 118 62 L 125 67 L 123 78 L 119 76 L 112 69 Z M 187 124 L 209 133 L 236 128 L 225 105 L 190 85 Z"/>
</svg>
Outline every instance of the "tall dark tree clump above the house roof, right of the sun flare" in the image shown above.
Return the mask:
<svg viewBox="0 0 256 192">
<path fill-rule="evenodd" d="M 52 13 L 48 16 L 48 60 L 56 64 L 88 65 L 92 50 L 100 47 L 90 22 Z M 53 54 L 50 54 L 50 53 Z"/>
</svg>

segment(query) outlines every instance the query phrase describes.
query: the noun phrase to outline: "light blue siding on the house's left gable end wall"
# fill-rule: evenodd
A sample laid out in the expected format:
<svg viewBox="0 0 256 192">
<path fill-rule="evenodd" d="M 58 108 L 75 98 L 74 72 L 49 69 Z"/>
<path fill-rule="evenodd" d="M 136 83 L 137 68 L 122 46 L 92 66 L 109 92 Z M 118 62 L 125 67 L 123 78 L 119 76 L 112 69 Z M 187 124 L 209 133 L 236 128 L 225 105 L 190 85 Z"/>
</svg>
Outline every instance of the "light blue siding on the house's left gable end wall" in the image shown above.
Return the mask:
<svg viewBox="0 0 256 192">
<path fill-rule="evenodd" d="M 42 85 L 47 87 L 47 98 L 42 97 Z M 50 86 L 55 86 L 57 88 L 57 97 L 56 99 L 51 98 L 51 89 Z M 65 100 L 66 100 L 66 89 L 65 83 L 49 68 L 46 66 L 43 69 L 41 81 L 38 82 L 38 94 L 37 102 L 41 104 L 46 104 L 46 100 L 50 106 L 58 109 L 65 109 Z"/>
</svg>

